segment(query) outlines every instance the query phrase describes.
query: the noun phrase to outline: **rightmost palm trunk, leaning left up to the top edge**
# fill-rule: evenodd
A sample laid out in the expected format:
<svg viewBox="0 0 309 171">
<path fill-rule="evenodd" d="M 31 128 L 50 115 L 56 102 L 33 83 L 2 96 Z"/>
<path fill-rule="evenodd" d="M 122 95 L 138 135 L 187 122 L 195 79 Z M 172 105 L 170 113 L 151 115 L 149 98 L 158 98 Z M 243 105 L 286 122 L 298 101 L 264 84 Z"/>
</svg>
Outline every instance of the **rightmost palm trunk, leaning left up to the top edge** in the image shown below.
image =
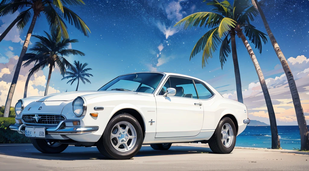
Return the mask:
<svg viewBox="0 0 309 171">
<path fill-rule="evenodd" d="M 295 112 L 296 112 L 296 118 L 297 118 L 297 122 L 298 122 L 298 127 L 299 127 L 299 131 L 300 131 L 300 149 L 301 150 L 309 150 L 309 132 L 308 132 L 308 128 L 307 128 L 307 122 L 304 116 L 304 112 L 303 112 L 303 108 L 302 105 L 300 103 L 300 98 L 298 95 L 298 91 L 297 91 L 297 87 L 295 84 L 295 80 L 292 74 L 292 71 L 290 70 L 290 67 L 288 65 L 288 62 L 286 61 L 286 57 L 283 55 L 275 37 L 273 36 L 273 32 L 270 30 L 270 27 L 268 25 L 268 22 L 266 20 L 266 17 L 259 5 L 259 3 L 257 2 L 257 0 L 252 0 L 252 4 L 255 6 L 255 8 L 257 10 L 259 10 L 259 13 L 261 15 L 261 18 L 263 20 L 265 29 L 267 31 L 267 34 L 269 36 L 269 39 L 271 41 L 271 44 L 273 45 L 273 48 L 280 60 L 280 63 L 283 67 L 284 73 L 286 74 L 286 78 L 288 80 L 289 83 L 289 87 L 290 87 L 290 91 L 291 91 L 291 95 L 292 95 L 292 99 L 293 99 L 293 103 L 294 103 L 294 108 L 295 108 Z"/>
</svg>

